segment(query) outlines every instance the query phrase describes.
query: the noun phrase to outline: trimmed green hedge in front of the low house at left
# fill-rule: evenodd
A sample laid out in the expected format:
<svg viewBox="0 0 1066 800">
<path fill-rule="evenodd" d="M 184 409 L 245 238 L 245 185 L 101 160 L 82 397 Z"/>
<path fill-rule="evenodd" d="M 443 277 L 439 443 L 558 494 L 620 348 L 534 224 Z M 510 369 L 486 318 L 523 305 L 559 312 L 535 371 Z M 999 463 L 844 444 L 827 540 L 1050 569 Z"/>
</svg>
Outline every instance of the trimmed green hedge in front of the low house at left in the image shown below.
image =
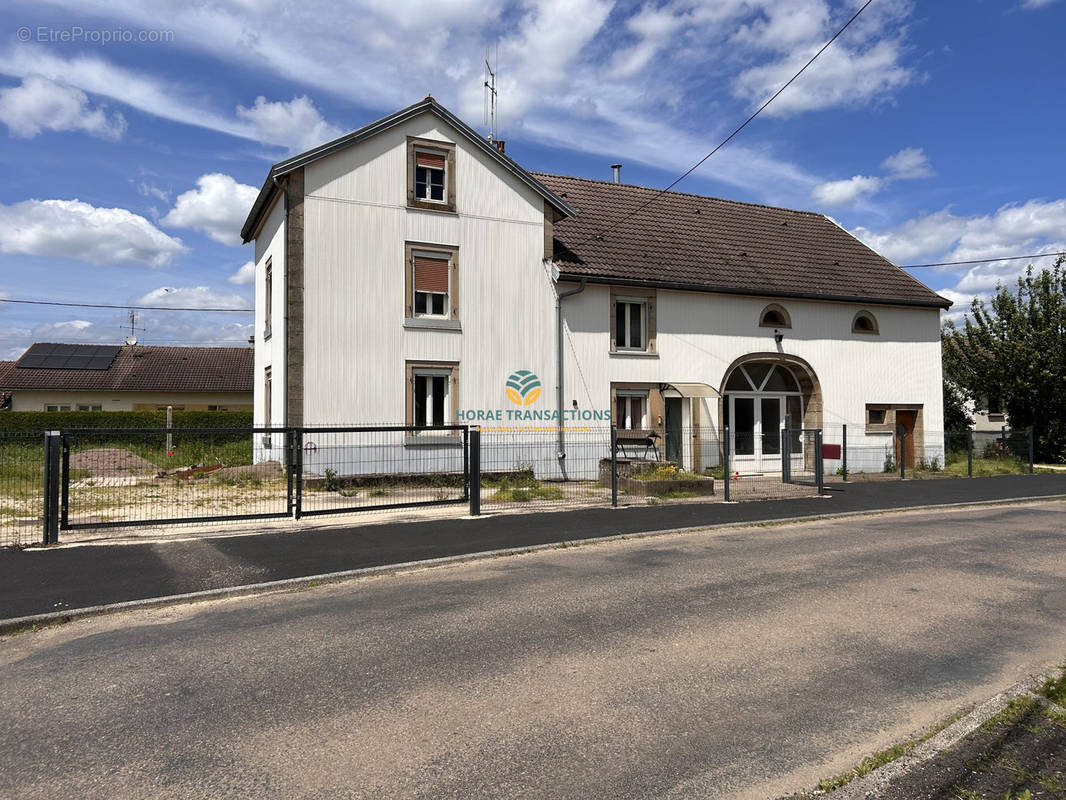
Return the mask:
<svg viewBox="0 0 1066 800">
<path fill-rule="evenodd" d="M 174 428 L 251 428 L 251 411 L 175 411 Z M 0 435 L 71 428 L 165 428 L 165 411 L 5 411 Z"/>
</svg>

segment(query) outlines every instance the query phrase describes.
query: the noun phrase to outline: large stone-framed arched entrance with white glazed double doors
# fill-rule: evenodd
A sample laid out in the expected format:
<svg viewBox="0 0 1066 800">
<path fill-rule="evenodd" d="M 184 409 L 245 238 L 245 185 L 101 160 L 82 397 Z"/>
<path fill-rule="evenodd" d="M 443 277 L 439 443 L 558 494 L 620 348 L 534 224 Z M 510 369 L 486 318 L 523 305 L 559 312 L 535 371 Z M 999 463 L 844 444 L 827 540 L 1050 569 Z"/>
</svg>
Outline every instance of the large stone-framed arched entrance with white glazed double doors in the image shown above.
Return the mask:
<svg viewBox="0 0 1066 800">
<path fill-rule="evenodd" d="M 780 353 L 738 358 L 722 385 L 722 425 L 729 427 L 729 461 L 745 473 L 779 471 L 781 431 L 820 428 L 822 390 L 810 365 Z M 725 439 L 723 439 L 725 442 Z M 793 434 L 793 458 L 803 458 Z"/>
</svg>

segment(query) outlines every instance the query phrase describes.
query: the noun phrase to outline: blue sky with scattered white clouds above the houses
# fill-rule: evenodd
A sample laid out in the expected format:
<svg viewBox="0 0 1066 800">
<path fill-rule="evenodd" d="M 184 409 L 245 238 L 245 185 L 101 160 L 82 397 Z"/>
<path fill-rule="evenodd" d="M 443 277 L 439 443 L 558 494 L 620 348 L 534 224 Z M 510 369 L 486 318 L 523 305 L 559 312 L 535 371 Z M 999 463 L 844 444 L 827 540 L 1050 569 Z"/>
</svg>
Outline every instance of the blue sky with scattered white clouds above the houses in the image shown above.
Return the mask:
<svg viewBox="0 0 1066 800">
<path fill-rule="evenodd" d="M 427 92 L 482 127 L 497 46 L 510 155 L 604 179 L 621 161 L 627 182 L 665 186 L 858 5 L 9 0 L 0 297 L 248 305 L 238 230 L 270 164 Z M 1066 250 L 1063 31 L 1066 0 L 874 0 L 678 188 L 825 212 L 898 263 Z M 1023 267 L 915 274 L 957 314 Z M 120 341 L 125 318 L 2 303 L 0 357 Z M 241 343 L 248 323 L 146 311 L 139 336 Z"/>
</svg>

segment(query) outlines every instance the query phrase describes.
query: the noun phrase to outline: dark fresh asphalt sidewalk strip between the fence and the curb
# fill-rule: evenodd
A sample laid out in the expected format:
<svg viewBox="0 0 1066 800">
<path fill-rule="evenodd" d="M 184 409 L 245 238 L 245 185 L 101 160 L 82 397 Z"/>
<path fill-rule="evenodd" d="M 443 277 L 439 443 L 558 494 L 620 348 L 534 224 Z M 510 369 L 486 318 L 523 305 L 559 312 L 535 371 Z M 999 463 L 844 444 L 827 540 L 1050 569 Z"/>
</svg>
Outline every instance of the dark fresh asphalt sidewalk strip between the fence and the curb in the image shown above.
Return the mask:
<svg viewBox="0 0 1066 800">
<path fill-rule="evenodd" d="M 0 549 L 0 620 L 561 540 L 1048 495 L 1066 495 L 1066 476 L 836 483 L 828 498 L 593 508 L 378 525 L 371 524 L 371 516 L 349 528 L 332 525 L 187 541 Z"/>
</svg>

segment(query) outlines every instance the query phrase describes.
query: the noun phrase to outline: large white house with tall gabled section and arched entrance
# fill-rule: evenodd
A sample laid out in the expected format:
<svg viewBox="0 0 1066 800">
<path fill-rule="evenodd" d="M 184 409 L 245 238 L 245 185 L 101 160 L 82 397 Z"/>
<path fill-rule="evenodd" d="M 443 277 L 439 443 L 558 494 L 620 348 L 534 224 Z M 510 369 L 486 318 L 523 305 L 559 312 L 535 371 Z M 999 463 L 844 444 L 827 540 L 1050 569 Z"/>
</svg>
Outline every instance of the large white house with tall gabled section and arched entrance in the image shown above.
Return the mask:
<svg viewBox="0 0 1066 800">
<path fill-rule="evenodd" d="M 949 301 L 821 214 L 530 173 L 427 97 L 275 164 L 242 236 L 257 425 L 614 421 L 702 469 L 729 423 L 771 470 L 788 418 L 942 453 Z M 574 442 L 531 438 L 542 470 Z"/>
</svg>

